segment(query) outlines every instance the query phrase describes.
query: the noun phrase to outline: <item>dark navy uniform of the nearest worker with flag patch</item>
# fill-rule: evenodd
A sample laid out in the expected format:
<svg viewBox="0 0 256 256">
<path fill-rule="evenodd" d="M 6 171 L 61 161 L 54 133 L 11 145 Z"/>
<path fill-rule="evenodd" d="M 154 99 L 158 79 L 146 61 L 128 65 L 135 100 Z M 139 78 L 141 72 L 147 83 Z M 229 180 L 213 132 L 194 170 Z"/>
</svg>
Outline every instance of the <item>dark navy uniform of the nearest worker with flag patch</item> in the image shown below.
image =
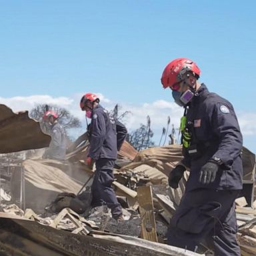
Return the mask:
<svg viewBox="0 0 256 256">
<path fill-rule="evenodd" d="M 201 85 L 187 110 L 191 145 L 183 146 L 183 164 L 190 168 L 186 190 L 171 219 L 169 245 L 191 251 L 205 239 L 215 256 L 240 255 L 236 241 L 235 199 L 242 189 L 243 138 L 233 106 Z M 201 167 L 221 159 L 216 179 L 199 182 Z"/>
</svg>

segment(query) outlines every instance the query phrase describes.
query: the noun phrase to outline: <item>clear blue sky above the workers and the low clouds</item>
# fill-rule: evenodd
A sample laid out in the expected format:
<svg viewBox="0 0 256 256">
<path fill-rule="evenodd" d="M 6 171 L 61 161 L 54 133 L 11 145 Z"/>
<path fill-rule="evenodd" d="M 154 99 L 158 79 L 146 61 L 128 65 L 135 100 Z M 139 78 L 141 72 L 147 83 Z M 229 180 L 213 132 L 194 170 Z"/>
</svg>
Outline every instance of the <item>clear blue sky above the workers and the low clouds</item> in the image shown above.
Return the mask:
<svg viewBox="0 0 256 256">
<path fill-rule="evenodd" d="M 64 97 L 81 117 L 77 101 L 93 91 L 142 111 L 137 123 L 147 109 L 157 120 L 157 108 L 177 123 L 180 112 L 163 107 L 173 99 L 160 78 L 169 61 L 189 57 L 209 90 L 233 103 L 255 152 L 255 9 L 253 0 L 0 0 L 0 99 L 22 110 L 31 97 Z M 154 125 L 158 139 L 165 123 Z"/>
</svg>

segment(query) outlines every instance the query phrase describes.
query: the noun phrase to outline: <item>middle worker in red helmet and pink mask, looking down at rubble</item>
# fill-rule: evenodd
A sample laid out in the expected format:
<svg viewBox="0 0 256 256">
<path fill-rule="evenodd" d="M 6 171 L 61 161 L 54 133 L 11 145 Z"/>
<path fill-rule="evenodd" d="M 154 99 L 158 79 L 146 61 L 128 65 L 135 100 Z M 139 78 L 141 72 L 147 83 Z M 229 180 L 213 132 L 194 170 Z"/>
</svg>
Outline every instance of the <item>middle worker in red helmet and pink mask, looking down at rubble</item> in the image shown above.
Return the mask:
<svg viewBox="0 0 256 256">
<path fill-rule="evenodd" d="M 93 93 L 83 95 L 80 107 L 82 111 L 86 111 L 86 117 L 91 119 L 87 165 L 91 166 L 95 161 L 96 171 L 91 186 L 92 206 L 107 205 L 113 219 L 123 221 L 123 211 L 111 184 L 114 181 L 113 167 L 117 151 L 125 140 L 127 130 L 99 105 L 99 98 Z"/>
</svg>

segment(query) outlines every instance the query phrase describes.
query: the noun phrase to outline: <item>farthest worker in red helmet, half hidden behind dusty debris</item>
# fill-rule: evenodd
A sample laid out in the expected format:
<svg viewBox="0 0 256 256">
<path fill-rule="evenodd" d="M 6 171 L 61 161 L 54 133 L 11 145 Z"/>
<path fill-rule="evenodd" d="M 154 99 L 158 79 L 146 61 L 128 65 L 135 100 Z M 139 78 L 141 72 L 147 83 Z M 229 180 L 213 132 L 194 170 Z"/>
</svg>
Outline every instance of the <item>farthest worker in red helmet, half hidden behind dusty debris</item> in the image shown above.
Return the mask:
<svg viewBox="0 0 256 256">
<path fill-rule="evenodd" d="M 46 111 L 43 115 L 43 121 L 49 124 L 49 135 L 51 142 L 49 148 L 45 151 L 43 158 L 65 160 L 66 139 L 65 131 L 58 122 L 58 115 L 54 111 Z"/>
</svg>

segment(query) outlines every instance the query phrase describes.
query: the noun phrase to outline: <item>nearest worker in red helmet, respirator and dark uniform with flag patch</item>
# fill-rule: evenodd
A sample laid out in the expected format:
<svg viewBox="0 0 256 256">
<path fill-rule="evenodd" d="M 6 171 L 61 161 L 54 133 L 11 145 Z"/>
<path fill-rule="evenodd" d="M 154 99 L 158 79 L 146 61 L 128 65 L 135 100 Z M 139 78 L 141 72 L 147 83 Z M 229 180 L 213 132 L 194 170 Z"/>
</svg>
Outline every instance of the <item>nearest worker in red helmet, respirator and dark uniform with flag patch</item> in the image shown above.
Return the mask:
<svg viewBox="0 0 256 256">
<path fill-rule="evenodd" d="M 200 69 L 186 58 L 171 61 L 161 77 L 181 118 L 183 159 L 169 173 L 176 189 L 184 171 L 189 179 L 167 232 L 169 245 L 195 251 L 205 241 L 215 256 L 241 255 L 236 240 L 235 199 L 243 184 L 243 138 L 233 106 L 199 83 Z"/>
</svg>

